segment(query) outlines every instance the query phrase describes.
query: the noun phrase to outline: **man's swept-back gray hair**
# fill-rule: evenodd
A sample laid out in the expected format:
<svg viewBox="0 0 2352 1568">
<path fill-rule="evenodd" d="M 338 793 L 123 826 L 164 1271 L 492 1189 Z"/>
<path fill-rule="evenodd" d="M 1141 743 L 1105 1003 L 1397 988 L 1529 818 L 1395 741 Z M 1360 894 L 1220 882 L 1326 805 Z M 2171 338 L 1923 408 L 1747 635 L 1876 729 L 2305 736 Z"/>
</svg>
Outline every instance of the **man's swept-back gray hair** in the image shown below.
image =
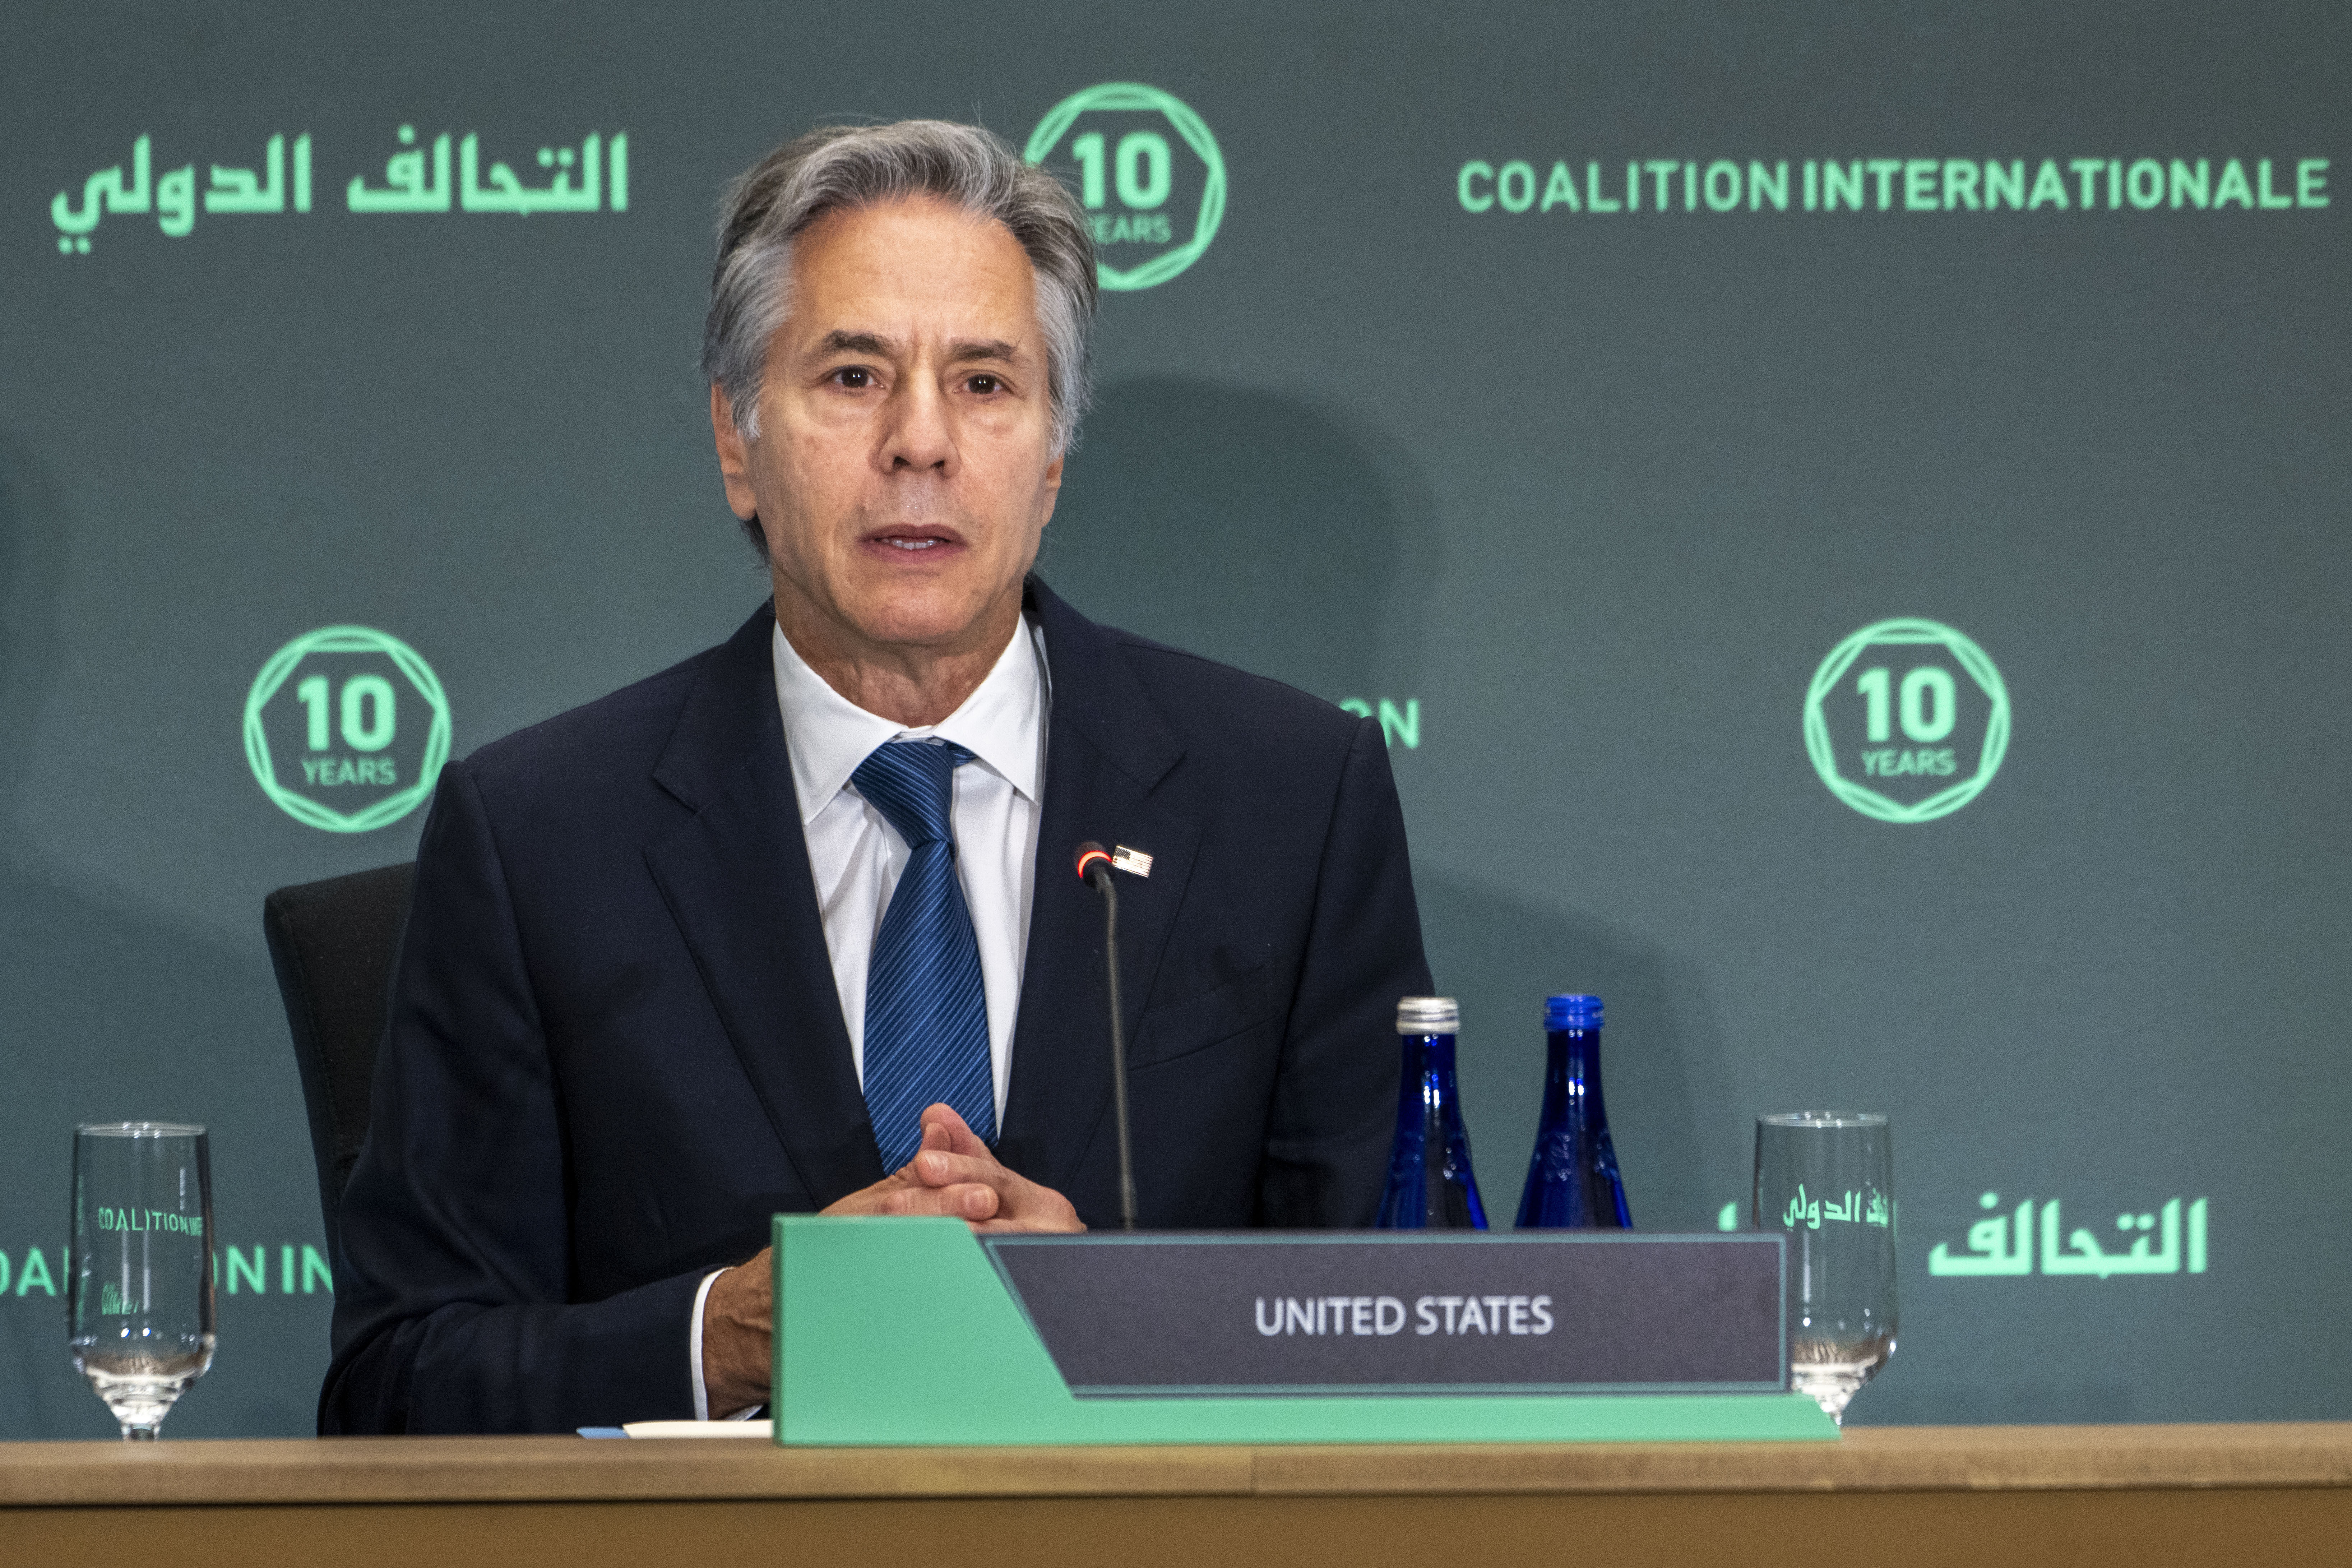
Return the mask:
<svg viewBox="0 0 2352 1568">
<path fill-rule="evenodd" d="M 703 317 L 703 374 L 727 393 L 734 423 L 760 440 L 767 346 L 793 310 L 793 240 L 830 212 L 929 195 L 995 219 L 1037 270 L 1054 449 L 1068 451 L 1089 400 L 1094 230 L 1077 197 L 995 132 L 948 120 L 828 125 L 795 136 L 720 200 L 720 254 Z"/>
</svg>

